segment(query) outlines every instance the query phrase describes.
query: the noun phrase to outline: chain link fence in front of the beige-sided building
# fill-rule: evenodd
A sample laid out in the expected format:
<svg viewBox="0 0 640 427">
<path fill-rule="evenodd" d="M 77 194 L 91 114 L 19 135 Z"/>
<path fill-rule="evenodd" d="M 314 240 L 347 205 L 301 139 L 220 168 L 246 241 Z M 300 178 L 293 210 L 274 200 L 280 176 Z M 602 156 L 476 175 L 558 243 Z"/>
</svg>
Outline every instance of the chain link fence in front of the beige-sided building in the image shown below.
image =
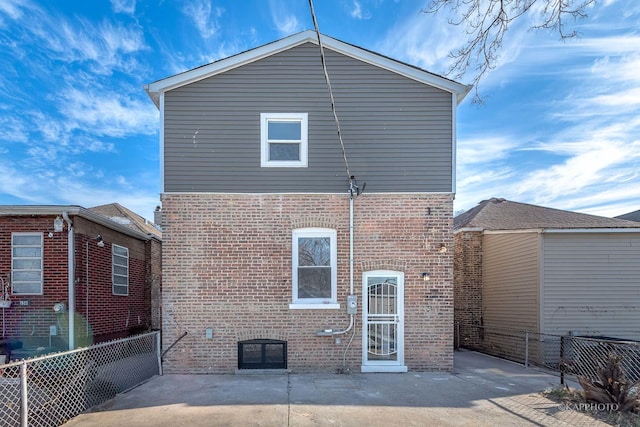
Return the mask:
<svg viewBox="0 0 640 427">
<path fill-rule="evenodd" d="M 621 359 L 627 380 L 640 381 L 640 342 L 605 337 L 539 334 L 456 324 L 456 345 L 564 375 L 598 380 L 610 355 Z"/>
</svg>

